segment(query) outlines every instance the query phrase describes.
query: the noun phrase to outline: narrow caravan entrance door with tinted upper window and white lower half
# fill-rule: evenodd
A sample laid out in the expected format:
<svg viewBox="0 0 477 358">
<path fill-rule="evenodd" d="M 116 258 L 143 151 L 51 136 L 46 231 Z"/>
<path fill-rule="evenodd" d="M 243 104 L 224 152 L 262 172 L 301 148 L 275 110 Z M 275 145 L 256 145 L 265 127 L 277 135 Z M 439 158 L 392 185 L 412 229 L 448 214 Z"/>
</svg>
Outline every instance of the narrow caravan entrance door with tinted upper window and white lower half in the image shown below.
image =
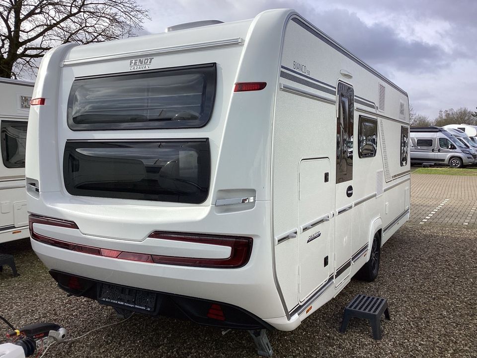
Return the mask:
<svg viewBox="0 0 477 358">
<path fill-rule="evenodd" d="M 338 286 L 351 272 L 353 222 L 353 125 L 354 90 L 338 82 L 336 120 L 335 186 L 335 284 Z"/>
</svg>

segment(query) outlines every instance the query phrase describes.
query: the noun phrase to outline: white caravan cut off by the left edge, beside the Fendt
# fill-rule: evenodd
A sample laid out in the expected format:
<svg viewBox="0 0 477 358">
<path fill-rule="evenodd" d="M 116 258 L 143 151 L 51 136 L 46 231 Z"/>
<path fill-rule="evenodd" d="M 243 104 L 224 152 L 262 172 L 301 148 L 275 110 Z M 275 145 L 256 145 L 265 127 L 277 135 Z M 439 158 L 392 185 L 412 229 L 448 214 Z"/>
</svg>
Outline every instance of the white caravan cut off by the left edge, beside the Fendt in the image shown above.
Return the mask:
<svg viewBox="0 0 477 358">
<path fill-rule="evenodd" d="M 33 83 L 0 78 L 0 244 L 27 238 L 25 149 Z"/>
</svg>

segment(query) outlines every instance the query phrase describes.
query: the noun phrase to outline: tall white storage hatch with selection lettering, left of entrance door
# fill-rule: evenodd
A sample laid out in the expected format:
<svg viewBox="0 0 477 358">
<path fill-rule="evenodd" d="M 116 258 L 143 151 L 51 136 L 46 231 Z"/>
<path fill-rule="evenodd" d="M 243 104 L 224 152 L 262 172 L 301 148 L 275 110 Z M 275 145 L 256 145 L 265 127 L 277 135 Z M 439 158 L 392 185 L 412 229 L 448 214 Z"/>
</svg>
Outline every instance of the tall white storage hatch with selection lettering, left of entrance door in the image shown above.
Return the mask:
<svg viewBox="0 0 477 358">
<path fill-rule="evenodd" d="M 329 159 L 300 162 L 298 188 L 298 299 L 305 301 L 329 276 Z"/>
</svg>

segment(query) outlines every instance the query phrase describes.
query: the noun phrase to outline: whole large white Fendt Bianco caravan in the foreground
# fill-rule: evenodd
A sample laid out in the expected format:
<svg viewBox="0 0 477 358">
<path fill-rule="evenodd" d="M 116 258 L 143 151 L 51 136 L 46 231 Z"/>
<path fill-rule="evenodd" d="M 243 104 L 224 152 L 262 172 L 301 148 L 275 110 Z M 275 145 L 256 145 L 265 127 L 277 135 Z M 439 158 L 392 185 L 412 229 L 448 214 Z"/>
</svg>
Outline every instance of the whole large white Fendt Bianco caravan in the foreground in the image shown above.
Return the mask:
<svg viewBox="0 0 477 358">
<path fill-rule="evenodd" d="M 43 58 L 32 247 L 71 294 L 270 355 L 408 220 L 408 97 L 293 10 L 202 25 Z"/>
</svg>

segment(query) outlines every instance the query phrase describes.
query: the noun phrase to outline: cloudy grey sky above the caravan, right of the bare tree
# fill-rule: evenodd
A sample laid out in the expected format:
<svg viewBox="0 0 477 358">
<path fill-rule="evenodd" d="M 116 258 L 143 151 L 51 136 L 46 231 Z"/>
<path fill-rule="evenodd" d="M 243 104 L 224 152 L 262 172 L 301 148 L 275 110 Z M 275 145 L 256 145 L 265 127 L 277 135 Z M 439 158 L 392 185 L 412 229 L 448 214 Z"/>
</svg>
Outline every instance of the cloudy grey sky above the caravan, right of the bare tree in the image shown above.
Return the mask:
<svg viewBox="0 0 477 358">
<path fill-rule="evenodd" d="M 146 32 L 294 8 L 407 91 L 419 114 L 477 106 L 477 0 L 138 0 Z"/>
</svg>

